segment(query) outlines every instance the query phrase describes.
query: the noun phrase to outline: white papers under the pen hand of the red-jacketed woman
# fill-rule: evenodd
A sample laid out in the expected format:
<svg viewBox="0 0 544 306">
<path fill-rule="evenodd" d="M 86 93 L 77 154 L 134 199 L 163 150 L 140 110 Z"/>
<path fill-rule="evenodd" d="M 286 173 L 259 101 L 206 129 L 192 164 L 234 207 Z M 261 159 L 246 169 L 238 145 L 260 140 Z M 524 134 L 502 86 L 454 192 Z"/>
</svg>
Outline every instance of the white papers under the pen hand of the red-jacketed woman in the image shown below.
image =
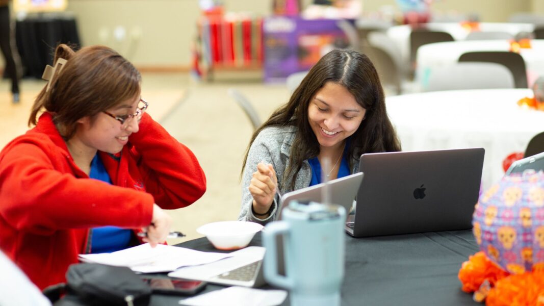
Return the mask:
<svg viewBox="0 0 544 306">
<path fill-rule="evenodd" d="M 145 243 L 113 253 L 79 254 L 79 260 L 112 266 L 127 266 L 139 273 L 153 273 L 174 271 L 183 266 L 208 264 L 230 256 L 232 255 L 200 252 L 164 244 L 151 248 L 149 243 Z"/>
</svg>

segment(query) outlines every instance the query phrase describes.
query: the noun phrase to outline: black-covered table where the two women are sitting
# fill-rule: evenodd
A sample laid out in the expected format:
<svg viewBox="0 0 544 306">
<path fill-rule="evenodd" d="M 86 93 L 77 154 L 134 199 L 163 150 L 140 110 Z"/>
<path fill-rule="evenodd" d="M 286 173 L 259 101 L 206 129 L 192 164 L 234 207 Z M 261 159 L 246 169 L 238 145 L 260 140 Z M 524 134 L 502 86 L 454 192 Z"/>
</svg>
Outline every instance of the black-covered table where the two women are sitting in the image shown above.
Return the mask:
<svg viewBox="0 0 544 306">
<path fill-rule="evenodd" d="M 342 305 L 480 305 L 461 291 L 457 274 L 479 248 L 470 230 L 353 238 L 345 236 Z M 261 246 L 256 235 L 251 246 Z M 177 244 L 220 252 L 206 238 Z M 203 292 L 224 286 L 208 284 Z M 272 288 L 266 286 L 264 289 Z M 180 297 L 153 295 L 150 305 L 178 305 Z M 282 305 L 289 305 L 289 299 Z"/>
</svg>

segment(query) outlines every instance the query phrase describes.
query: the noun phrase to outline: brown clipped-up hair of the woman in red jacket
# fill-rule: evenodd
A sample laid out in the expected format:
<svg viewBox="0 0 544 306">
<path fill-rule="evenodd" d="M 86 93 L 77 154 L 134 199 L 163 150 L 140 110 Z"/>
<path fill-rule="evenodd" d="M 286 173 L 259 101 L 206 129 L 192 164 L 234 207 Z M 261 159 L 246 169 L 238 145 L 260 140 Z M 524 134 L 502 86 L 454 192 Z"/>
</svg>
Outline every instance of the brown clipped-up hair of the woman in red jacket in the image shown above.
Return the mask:
<svg viewBox="0 0 544 306">
<path fill-rule="evenodd" d="M 35 125 L 39 112 L 52 113 L 64 139 L 76 132 L 77 120 L 94 116 L 140 93 L 140 72 L 119 53 L 106 46 L 89 46 L 74 52 L 60 44 L 58 58 L 67 60 L 63 69 L 40 91 L 32 107 L 28 125 Z M 58 70 L 58 69 L 57 69 Z"/>
</svg>

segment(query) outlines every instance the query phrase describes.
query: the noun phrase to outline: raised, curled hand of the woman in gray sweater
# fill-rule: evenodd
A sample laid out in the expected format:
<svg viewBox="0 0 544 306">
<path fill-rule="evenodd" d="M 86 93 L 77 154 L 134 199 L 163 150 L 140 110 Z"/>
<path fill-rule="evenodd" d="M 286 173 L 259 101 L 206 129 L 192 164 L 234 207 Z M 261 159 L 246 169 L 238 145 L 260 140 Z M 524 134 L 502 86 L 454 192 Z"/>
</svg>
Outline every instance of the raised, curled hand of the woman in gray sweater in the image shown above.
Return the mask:
<svg viewBox="0 0 544 306">
<path fill-rule="evenodd" d="M 263 162 L 257 164 L 257 171 L 249 183 L 249 192 L 253 197 L 253 211 L 262 214 L 270 209 L 276 194 L 277 178 L 274 167 Z M 257 216 L 267 218 L 268 216 Z"/>
</svg>

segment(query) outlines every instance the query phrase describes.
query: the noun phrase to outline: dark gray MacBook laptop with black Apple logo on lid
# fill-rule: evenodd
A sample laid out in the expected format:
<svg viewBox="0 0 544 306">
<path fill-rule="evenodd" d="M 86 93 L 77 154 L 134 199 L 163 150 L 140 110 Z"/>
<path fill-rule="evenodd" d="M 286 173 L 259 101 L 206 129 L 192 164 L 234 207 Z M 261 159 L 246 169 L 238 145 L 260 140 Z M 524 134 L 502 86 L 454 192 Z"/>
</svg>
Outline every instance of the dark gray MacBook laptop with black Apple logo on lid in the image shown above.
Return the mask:
<svg viewBox="0 0 544 306">
<path fill-rule="evenodd" d="M 483 148 L 363 154 L 346 231 L 370 237 L 472 228 L 483 164 Z"/>
</svg>

